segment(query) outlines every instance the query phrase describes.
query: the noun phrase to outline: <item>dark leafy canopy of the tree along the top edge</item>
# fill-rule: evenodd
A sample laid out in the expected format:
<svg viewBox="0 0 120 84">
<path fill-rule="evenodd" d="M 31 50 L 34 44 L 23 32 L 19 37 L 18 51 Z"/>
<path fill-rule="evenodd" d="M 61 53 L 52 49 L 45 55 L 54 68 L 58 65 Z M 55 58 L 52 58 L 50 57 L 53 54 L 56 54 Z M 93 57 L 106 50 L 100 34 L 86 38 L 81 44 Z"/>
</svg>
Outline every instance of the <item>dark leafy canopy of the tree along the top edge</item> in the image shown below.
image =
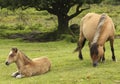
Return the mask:
<svg viewBox="0 0 120 84">
<path fill-rule="evenodd" d="M 56 7 L 62 7 L 63 8 L 67 5 L 69 6 L 73 6 L 75 4 L 79 4 L 82 5 L 83 3 L 88 3 L 88 4 L 92 4 L 92 3 L 100 3 L 102 0 L 0 0 L 1 7 L 8 7 L 8 8 L 26 8 L 26 7 L 34 7 L 36 9 L 43 9 L 43 10 L 49 10 L 50 8 L 53 9 L 59 9 Z M 57 5 L 55 5 L 57 4 Z M 57 11 L 56 11 L 57 12 Z"/>
</svg>

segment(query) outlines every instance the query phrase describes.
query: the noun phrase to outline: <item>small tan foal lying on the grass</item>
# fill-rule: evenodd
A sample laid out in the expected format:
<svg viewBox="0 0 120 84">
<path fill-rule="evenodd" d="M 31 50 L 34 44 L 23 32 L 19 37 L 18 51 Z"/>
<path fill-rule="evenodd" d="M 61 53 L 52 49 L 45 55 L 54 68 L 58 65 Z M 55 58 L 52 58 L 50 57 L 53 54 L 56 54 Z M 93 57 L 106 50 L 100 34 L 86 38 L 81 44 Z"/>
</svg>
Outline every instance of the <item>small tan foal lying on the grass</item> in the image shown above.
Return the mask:
<svg viewBox="0 0 120 84">
<path fill-rule="evenodd" d="M 18 71 L 12 74 L 13 77 L 22 78 L 46 73 L 50 70 L 51 62 L 47 57 L 29 59 L 17 48 L 12 48 L 5 64 L 16 63 Z"/>
</svg>

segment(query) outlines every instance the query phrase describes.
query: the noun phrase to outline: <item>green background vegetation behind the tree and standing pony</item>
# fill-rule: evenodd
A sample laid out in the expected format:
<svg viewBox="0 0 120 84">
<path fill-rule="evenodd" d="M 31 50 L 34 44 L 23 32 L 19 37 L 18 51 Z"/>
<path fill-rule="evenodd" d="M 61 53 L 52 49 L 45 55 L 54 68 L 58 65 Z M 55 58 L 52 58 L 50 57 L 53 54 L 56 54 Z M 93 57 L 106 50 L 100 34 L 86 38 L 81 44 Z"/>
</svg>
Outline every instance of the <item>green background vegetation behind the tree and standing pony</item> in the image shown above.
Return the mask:
<svg viewBox="0 0 120 84">
<path fill-rule="evenodd" d="M 69 13 L 75 11 L 73 7 Z M 81 18 L 88 12 L 107 13 L 114 21 L 116 26 L 116 35 L 120 34 L 120 6 L 116 5 L 91 5 L 89 10 L 86 10 L 73 18 L 69 22 L 71 25 L 79 25 Z M 49 41 L 59 40 L 63 38 L 73 38 L 74 35 L 61 35 L 57 37 L 54 31 L 57 30 L 57 17 L 49 14 L 47 11 L 36 11 L 34 8 L 26 10 L 16 9 L 10 11 L 7 9 L 0 9 L 0 37 L 1 38 L 21 38 L 29 41 Z M 78 28 L 78 27 L 77 27 Z M 75 26 L 73 26 L 75 30 Z M 79 29 L 77 29 L 79 31 Z M 49 33 L 51 32 L 51 33 Z M 74 32 L 74 31 L 73 31 Z M 76 35 L 78 35 L 77 32 Z M 74 37 L 75 38 L 75 37 Z M 77 38 L 78 39 L 78 38 Z"/>
</svg>

